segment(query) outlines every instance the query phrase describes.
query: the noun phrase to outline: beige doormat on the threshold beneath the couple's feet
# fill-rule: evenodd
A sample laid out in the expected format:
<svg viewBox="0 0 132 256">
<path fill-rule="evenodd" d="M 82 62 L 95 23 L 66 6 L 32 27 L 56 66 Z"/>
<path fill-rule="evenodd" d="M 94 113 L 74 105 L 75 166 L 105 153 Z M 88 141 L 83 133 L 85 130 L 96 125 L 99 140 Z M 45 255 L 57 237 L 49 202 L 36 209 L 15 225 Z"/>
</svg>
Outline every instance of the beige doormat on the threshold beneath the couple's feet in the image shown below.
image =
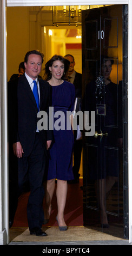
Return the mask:
<svg viewBox="0 0 132 256">
<path fill-rule="evenodd" d="M 95 241 L 95 240 L 121 240 L 118 237 L 104 234 L 100 231 L 86 227 L 69 227 L 67 231 L 60 231 L 58 227 L 43 227 L 48 236 L 35 236 L 29 234 L 27 228 L 12 242 L 57 242 L 57 241 Z"/>
</svg>

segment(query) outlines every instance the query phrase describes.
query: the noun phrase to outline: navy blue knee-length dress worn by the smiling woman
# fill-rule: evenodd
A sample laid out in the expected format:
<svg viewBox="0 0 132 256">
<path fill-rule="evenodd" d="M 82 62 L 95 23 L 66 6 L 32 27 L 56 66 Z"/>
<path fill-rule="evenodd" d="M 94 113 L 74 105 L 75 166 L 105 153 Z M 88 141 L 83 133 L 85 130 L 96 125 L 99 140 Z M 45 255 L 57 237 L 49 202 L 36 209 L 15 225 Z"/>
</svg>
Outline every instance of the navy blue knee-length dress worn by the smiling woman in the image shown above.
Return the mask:
<svg viewBox="0 0 132 256">
<path fill-rule="evenodd" d="M 60 86 L 52 86 L 51 88 L 52 107 L 54 107 L 54 141 L 49 149 L 47 179 L 72 180 L 74 179 L 72 173 L 74 135 L 71 125 L 70 130 L 67 130 L 67 111 L 72 112 L 74 110 L 75 87 L 64 81 Z M 61 111 L 61 115 L 55 117 L 56 114 L 60 114 L 57 111 Z M 60 117 L 63 118 L 63 121 Z M 64 130 L 56 130 L 55 126 L 61 126 Z"/>
</svg>

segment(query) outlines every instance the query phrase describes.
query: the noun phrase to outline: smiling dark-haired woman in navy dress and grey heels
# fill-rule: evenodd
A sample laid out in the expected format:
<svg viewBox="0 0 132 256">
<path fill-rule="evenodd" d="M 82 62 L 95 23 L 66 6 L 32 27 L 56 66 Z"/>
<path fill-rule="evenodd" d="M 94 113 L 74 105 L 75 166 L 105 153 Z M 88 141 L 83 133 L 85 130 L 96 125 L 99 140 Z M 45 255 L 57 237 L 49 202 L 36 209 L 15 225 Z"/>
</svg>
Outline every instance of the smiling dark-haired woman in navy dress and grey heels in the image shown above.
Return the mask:
<svg viewBox="0 0 132 256">
<path fill-rule="evenodd" d="M 64 208 L 67 198 L 67 181 L 74 179 L 72 173 L 72 153 L 74 135 L 67 118 L 67 112 L 74 110 L 75 87 L 65 81 L 69 69 L 69 61 L 62 56 L 53 56 L 45 65 L 47 81 L 51 86 L 52 107 L 54 107 L 54 141 L 49 149 L 48 175 L 45 186 L 45 222 L 48 223 L 51 213 L 51 200 L 57 179 L 57 222 L 60 230 L 67 230 L 64 221 Z M 61 111 L 61 112 L 60 112 Z M 69 116 L 69 115 L 68 115 Z M 67 129 L 70 129 L 68 130 Z"/>
</svg>

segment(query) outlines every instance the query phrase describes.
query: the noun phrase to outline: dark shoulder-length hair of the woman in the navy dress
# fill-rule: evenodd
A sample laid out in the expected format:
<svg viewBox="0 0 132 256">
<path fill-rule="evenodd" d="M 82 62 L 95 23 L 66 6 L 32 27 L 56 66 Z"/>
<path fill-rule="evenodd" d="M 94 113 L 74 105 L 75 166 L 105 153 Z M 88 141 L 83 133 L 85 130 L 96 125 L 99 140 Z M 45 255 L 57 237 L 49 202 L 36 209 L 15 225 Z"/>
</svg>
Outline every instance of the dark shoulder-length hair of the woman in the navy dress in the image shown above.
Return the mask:
<svg viewBox="0 0 132 256">
<path fill-rule="evenodd" d="M 48 62 L 45 64 L 45 73 L 44 73 L 44 80 L 48 81 L 51 79 L 51 71 L 49 70 L 49 67 L 52 66 L 52 64 L 56 61 L 56 60 L 60 60 L 60 62 L 62 62 L 64 64 L 64 74 L 62 76 L 63 80 L 68 80 L 68 69 L 70 66 L 70 62 L 68 59 L 65 59 L 64 57 L 62 57 L 61 55 L 57 55 L 55 54 L 54 56 L 52 56 L 51 59 L 48 60 Z"/>
</svg>

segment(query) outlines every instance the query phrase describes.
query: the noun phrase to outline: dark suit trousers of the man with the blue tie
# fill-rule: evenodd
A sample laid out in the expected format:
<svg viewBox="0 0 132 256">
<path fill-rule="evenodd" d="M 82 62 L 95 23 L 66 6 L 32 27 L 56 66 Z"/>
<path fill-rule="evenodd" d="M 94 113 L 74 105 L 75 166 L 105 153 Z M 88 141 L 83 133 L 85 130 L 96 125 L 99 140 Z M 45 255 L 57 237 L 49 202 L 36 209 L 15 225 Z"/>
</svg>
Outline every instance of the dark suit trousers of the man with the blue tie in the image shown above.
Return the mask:
<svg viewBox="0 0 132 256">
<path fill-rule="evenodd" d="M 20 191 L 24 191 L 25 184 L 29 182 L 30 195 L 27 205 L 29 230 L 42 227 L 43 212 L 43 176 L 45 169 L 45 151 L 39 133 L 36 132 L 34 148 L 30 156 L 18 160 L 18 184 Z"/>
</svg>

